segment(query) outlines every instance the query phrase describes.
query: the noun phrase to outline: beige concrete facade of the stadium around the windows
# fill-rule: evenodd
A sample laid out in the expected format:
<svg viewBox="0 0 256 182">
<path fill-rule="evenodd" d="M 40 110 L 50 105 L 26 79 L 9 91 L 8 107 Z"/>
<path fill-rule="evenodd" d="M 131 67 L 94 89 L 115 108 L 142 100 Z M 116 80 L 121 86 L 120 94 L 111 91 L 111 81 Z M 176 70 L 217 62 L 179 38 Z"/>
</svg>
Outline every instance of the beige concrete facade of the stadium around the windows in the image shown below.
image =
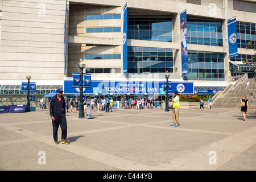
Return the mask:
<svg viewBox="0 0 256 182">
<path fill-rule="evenodd" d="M 86 55 L 104 53 L 121 54 L 121 59 L 85 60 L 86 68 L 113 68 L 116 72 L 93 73 L 92 77 L 96 80 L 109 79 L 114 75 L 115 80 L 127 79 L 122 74 L 125 3 L 125 0 L 67 1 L 67 39 L 64 46 L 65 0 L 47 0 L 43 3 L 39 0 L 0 1 L 0 80 L 26 80 L 26 76 L 31 75 L 33 80 L 61 81 L 71 77 L 72 72 L 79 72 L 77 64 L 80 59 L 85 60 Z M 173 26 L 171 43 L 129 39 L 127 46 L 173 49 L 174 68 L 177 68 L 173 79 L 183 81 L 179 24 L 179 14 L 183 10 L 187 10 L 187 16 L 191 18 L 222 21 L 223 47 L 188 44 L 188 49 L 224 53 L 225 81 L 194 81 L 195 86 L 227 86 L 230 81 L 227 20 L 236 16 L 238 21 L 256 22 L 256 13 L 234 10 L 233 0 L 201 0 L 201 5 L 187 3 L 186 0 L 127 0 L 128 16 L 170 16 Z M 121 19 L 86 20 L 86 15 L 106 14 L 121 14 Z M 121 32 L 86 32 L 86 28 L 90 27 L 121 27 Z M 238 53 L 254 55 L 255 51 L 238 48 Z"/>
</svg>

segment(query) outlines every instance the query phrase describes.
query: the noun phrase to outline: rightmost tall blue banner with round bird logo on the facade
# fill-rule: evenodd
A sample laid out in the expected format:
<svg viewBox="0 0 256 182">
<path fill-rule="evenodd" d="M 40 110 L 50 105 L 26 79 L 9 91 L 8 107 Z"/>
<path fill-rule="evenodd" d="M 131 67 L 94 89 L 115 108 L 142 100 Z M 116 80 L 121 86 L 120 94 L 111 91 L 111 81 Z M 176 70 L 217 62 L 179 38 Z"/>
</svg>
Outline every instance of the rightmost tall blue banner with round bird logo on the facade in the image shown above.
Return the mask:
<svg viewBox="0 0 256 182">
<path fill-rule="evenodd" d="M 228 21 L 229 57 L 237 56 L 237 19 Z"/>
</svg>

